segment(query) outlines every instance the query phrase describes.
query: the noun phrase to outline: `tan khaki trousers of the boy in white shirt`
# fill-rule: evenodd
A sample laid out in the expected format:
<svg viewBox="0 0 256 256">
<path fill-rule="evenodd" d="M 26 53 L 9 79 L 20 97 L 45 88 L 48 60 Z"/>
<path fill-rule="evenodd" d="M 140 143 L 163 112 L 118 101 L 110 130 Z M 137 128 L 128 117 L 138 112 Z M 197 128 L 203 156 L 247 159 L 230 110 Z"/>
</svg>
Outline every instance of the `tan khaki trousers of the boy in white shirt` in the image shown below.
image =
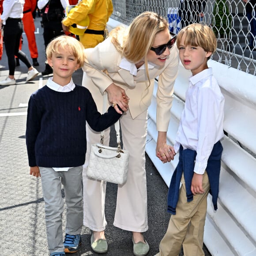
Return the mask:
<svg viewBox="0 0 256 256">
<path fill-rule="evenodd" d="M 203 230 L 207 211 L 207 196 L 210 189 L 208 175 L 203 175 L 204 194 L 197 194 L 187 202 L 184 175 L 181 177 L 180 197 L 176 215 L 171 215 L 165 236 L 156 256 L 178 256 L 183 246 L 184 256 L 204 256 Z"/>
</svg>

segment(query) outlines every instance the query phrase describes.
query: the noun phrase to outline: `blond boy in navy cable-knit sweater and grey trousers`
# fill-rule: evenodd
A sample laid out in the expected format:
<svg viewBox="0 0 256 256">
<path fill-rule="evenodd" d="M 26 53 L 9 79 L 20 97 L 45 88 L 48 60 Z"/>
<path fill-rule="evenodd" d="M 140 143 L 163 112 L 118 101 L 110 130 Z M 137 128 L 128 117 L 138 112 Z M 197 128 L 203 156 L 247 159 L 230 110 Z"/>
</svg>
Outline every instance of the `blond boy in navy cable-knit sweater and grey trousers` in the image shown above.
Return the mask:
<svg viewBox="0 0 256 256">
<path fill-rule="evenodd" d="M 53 77 L 30 96 L 28 105 L 26 146 L 30 174 L 41 177 L 50 256 L 77 252 L 81 243 L 86 122 L 100 132 L 121 116 L 113 106 L 101 115 L 89 90 L 73 83 L 73 72 L 84 62 L 83 51 L 83 45 L 75 38 L 60 36 L 53 39 L 46 49 Z M 61 183 L 67 204 L 64 243 Z"/>
</svg>

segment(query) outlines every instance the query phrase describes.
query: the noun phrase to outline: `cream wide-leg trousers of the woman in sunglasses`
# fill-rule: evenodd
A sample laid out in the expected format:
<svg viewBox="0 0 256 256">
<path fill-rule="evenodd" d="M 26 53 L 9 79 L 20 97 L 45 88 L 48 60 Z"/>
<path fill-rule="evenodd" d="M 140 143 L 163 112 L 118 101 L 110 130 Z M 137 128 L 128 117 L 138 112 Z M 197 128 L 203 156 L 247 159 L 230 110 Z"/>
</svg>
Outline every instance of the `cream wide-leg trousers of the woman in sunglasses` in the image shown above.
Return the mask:
<svg viewBox="0 0 256 256">
<path fill-rule="evenodd" d="M 118 185 L 114 226 L 123 230 L 145 232 L 147 225 L 147 184 L 145 170 L 145 144 L 147 111 L 132 119 L 129 111 L 120 118 L 123 148 L 129 151 L 127 181 Z M 104 144 L 109 145 L 110 128 L 105 130 Z M 105 230 L 106 182 L 87 177 L 90 145 L 100 142 L 100 132 L 87 125 L 87 154 L 83 166 L 84 226 L 94 231 Z"/>
</svg>

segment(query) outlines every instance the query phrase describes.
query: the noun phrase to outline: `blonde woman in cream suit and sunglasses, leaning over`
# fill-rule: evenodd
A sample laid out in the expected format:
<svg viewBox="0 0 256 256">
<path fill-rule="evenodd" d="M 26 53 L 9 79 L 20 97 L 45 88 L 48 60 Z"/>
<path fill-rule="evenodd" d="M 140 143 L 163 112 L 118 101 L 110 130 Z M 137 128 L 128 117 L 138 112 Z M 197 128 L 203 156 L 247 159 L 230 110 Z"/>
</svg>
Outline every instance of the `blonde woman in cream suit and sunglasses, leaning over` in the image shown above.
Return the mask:
<svg viewBox="0 0 256 256">
<path fill-rule="evenodd" d="M 166 144 L 170 119 L 173 85 L 178 71 L 175 38 L 169 34 L 168 23 L 153 12 L 144 12 L 128 29 L 118 27 L 109 38 L 95 48 L 85 49 L 83 86 L 93 95 L 102 109 L 104 91 L 109 104 L 116 111 L 128 111 L 120 118 L 123 146 L 130 153 L 127 182 L 118 186 L 114 226 L 132 231 L 133 253 L 143 256 L 149 245 L 143 238 L 147 225 L 147 184 L 145 171 L 145 144 L 147 136 L 147 108 L 151 104 L 154 79 L 157 91 L 157 155 L 162 161 L 173 159 Z M 104 70 L 105 72 L 102 72 Z M 126 96 L 126 97 L 123 97 Z M 129 106 L 125 103 L 129 99 Z M 91 247 L 94 252 L 107 252 L 105 241 L 105 182 L 87 177 L 90 145 L 100 141 L 100 134 L 87 125 L 87 157 L 84 164 L 84 225 L 93 230 Z M 109 129 L 104 143 L 109 143 Z"/>
</svg>

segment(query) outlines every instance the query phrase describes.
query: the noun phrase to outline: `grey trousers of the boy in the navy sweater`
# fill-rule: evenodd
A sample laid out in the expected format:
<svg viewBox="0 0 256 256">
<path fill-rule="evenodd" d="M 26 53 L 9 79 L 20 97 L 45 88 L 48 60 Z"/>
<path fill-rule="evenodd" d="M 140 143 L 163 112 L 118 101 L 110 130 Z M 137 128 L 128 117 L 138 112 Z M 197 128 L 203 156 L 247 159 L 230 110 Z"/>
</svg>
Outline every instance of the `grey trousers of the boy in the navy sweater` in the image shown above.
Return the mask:
<svg viewBox="0 0 256 256">
<path fill-rule="evenodd" d="M 56 172 L 53 168 L 39 167 L 42 191 L 45 200 L 45 223 L 48 248 L 52 252 L 64 252 L 62 214 L 64 200 L 61 183 L 64 186 L 67 205 L 66 233 L 77 235 L 83 227 L 83 166 L 73 167 L 67 172 Z"/>
</svg>

